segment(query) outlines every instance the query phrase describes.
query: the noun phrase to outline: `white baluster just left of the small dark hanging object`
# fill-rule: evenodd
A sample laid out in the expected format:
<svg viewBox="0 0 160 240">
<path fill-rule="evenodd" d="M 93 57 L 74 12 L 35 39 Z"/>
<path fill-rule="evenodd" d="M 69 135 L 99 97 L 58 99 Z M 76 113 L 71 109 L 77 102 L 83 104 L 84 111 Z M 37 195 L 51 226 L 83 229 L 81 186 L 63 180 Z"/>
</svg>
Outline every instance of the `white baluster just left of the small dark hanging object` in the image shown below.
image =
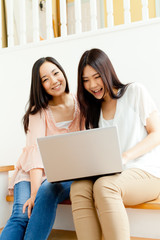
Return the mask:
<svg viewBox="0 0 160 240">
<path fill-rule="evenodd" d="M 32 0 L 33 42 L 39 42 L 39 1 Z"/>
</svg>

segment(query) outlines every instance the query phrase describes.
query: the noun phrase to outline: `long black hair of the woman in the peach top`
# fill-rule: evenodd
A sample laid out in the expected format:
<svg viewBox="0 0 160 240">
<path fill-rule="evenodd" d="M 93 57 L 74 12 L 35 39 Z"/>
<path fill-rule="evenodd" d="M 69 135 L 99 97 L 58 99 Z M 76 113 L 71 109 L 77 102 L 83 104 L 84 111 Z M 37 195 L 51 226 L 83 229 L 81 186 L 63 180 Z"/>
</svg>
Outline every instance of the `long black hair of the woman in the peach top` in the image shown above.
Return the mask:
<svg viewBox="0 0 160 240">
<path fill-rule="evenodd" d="M 42 86 L 39 69 L 44 62 L 51 62 L 59 68 L 59 70 L 63 73 L 64 78 L 66 80 L 65 92 L 69 93 L 69 85 L 68 85 L 67 76 L 66 76 L 65 71 L 63 70 L 62 66 L 57 62 L 57 60 L 52 57 L 43 57 L 43 58 L 38 59 L 34 63 L 33 68 L 32 68 L 31 88 L 30 88 L 30 96 L 29 96 L 29 100 L 28 100 L 28 108 L 23 117 L 23 126 L 24 126 L 25 133 L 27 133 L 27 130 L 28 130 L 29 115 L 36 114 L 38 111 L 41 111 L 42 108 L 45 109 L 48 106 L 49 100 L 51 100 L 53 98 L 51 95 L 49 95 L 44 90 L 44 88 Z"/>
</svg>

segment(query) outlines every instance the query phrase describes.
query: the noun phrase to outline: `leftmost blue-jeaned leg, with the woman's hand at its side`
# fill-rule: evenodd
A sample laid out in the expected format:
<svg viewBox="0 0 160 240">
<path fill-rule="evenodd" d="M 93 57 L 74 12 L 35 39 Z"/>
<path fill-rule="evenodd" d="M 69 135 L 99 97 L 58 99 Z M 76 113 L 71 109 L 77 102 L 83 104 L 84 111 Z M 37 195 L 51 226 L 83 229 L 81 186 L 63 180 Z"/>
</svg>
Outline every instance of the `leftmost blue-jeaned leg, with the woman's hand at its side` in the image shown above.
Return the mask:
<svg viewBox="0 0 160 240">
<path fill-rule="evenodd" d="M 30 183 L 20 182 L 14 187 L 14 203 L 10 219 L 0 236 L 1 240 L 23 240 L 28 223 L 27 209 L 23 214 L 23 204 L 30 197 Z"/>
</svg>

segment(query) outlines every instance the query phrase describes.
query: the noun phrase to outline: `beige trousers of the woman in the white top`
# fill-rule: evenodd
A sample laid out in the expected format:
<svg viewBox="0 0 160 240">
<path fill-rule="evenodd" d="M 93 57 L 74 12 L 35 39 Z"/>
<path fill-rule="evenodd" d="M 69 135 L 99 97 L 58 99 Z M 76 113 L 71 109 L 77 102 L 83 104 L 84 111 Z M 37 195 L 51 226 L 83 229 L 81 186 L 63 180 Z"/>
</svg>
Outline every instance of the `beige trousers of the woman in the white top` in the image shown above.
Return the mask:
<svg viewBox="0 0 160 240">
<path fill-rule="evenodd" d="M 72 212 L 78 240 L 129 240 L 128 216 L 124 205 L 156 199 L 160 178 L 140 169 L 71 185 Z"/>
</svg>

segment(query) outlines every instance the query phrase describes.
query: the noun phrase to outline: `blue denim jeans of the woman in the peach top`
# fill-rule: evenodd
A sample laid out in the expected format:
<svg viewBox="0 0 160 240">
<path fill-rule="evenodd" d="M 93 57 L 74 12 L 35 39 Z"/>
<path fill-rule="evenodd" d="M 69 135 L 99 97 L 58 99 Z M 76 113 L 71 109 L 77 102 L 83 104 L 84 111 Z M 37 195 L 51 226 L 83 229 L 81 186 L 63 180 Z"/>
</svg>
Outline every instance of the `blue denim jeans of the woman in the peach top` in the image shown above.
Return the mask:
<svg viewBox="0 0 160 240">
<path fill-rule="evenodd" d="M 49 183 L 45 180 L 35 199 L 30 219 L 28 208 L 22 213 L 23 204 L 30 198 L 30 182 L 20 182 L 14 187 L 14 203 L 10 219 L 0 240 L 45 240 L 48 238 L 56 216 L 58 203 L 69 198 L 72 181 Z"/>
</svg>

